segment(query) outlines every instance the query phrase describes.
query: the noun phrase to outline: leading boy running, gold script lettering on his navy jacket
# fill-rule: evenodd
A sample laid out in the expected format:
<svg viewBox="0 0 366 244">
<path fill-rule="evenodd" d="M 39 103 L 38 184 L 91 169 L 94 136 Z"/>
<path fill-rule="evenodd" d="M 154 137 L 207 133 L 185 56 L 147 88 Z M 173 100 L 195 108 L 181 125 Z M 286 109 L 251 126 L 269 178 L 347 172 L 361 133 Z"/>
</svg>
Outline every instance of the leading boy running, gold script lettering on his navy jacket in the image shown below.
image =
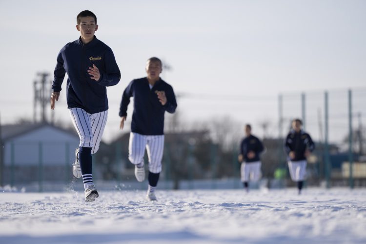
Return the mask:
<svg viewBox="0 0 366 244">
<path fill-rule="evenodd" d="M 80 38 L 67 43 L 57 56 L 51 109 L 59 100 L 61 84 L 67 73 L 67 107 L 80 137 L 73 174 L 77 178 L 82 176 L 85 202 L 92 202 L 99 194 L 93 183 L 91 154 L 99 149 L 107 121 L 106 86 L 117 84 L 121 72 L 112 49 L 94 36 L 98 25 L 97 17 L 91 11 L 84 10 L 77 16 L 76 28 L 80 31 Z"/>
</svg>

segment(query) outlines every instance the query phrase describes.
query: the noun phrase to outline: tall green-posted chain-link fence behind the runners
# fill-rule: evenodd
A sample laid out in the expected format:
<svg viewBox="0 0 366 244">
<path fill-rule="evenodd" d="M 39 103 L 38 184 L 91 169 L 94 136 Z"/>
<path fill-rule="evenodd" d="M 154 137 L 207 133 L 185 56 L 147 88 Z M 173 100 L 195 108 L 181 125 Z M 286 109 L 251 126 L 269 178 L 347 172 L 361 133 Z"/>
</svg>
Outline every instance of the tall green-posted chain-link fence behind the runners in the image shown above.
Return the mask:
<svg viewBox="0 0 366 244">
<path fill-rule="evenodd" d="M 278 103 L 278 136 L 262 138 L 266 148 L 262 155 L 262 181 L 259 186 L 291 186 L 284 138 L 291 121 L 300 118 L 316 150 L 308 158 L 307 185 L 365 186 L 366 88 L 280 94 Z M 264 111 L 265 112 L 265 111 Z M 215 126 L 220 130 L 220 126 Z M 227 129 L 227 128 L 225 128 Z M 134 165 L 128 161 L 128 133 L 109 144 L 101 144 L 93 155 L 95 181 L 108 189 L 143 189 L 134 178 Z M 64 188 L 75 182 L 71 165 L 77 143 L 3 141 L 1 163 L 2 185 L 23 186 L 32 183 L 40 191 L 52 184 Z M 159 187 L 167 189 L 238 188 L 240 163 L 239 142 L 232 146 L 212 138 L 208 129 L 167 132 L 163 172 Z M 145 158 L 147 165 L 147 158 Z M 147 170 L 147 167 L 146 167 Z M 82 184 L 80 183 L 82 186 Z M 252 184 L 253 186 L 253 184 Z"/>
</svg>

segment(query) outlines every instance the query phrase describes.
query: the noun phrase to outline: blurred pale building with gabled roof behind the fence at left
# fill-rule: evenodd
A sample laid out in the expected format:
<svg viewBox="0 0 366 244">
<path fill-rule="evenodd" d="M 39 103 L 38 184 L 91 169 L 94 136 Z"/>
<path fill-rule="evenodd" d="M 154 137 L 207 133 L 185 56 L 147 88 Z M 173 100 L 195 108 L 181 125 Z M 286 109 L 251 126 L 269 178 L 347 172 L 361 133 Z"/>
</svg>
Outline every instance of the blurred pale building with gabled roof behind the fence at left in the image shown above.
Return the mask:
<svg viewBox="0 0 366 244">
<path fill-rule="evenodd" d="M 48 123 L 2 125 L 1 144 L 0 184 L 67 181 L 79 136 Z"/>
</svg>

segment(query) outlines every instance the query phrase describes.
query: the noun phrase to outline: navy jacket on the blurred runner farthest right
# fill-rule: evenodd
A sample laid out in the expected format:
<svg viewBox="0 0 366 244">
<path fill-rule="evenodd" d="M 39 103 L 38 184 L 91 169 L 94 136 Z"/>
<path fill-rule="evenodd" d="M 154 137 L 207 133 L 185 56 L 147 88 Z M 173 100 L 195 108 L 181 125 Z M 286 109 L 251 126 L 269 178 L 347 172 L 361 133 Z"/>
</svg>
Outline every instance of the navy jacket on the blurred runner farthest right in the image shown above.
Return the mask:
<svg viewBox="0 0 366 244">
<path fill-rule="evenodd" d="M 306 160 L 305 158 L 305 151 L 308 149 L 312 152 L 315 148 L 315 144 L 311 139 L 310 135 L 307 134 L 305 131 L 301 130 L 299 133 L 296 133 L 295 130 L 291 130 L 288 133 L 286 140 L 285 140 L 285 152 L 288 156 L 290 151 L 295 152 L 295 158 L 289 159 L 291 161 L 302 161 Z"/>
</svg>

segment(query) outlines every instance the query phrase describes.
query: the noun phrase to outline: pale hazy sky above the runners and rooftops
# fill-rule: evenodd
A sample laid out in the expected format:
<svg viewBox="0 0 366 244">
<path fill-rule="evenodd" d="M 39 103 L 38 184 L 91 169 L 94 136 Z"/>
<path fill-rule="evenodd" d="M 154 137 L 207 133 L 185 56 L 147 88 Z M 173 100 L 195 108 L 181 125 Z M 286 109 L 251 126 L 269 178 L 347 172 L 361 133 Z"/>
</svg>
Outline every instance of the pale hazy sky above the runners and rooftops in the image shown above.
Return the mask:
<svg viewBox="0 0 366 244">
<path fill-rule="evenodd" d="M 53 75 L 85 9 L 122 73 L 107 88 L 107 139 L 118 132 L 124 88 L 152 56 L 172 67 L 163 79 L 186 95 L 178 111 L 187 122 L 275 123 L 279 93 L 366 87 L 365 0 L 0 0 L 2 123 L 33 118 L 36 74 Z M 62 91 L 55 117 L 70 122 Z"/>
</svg>

